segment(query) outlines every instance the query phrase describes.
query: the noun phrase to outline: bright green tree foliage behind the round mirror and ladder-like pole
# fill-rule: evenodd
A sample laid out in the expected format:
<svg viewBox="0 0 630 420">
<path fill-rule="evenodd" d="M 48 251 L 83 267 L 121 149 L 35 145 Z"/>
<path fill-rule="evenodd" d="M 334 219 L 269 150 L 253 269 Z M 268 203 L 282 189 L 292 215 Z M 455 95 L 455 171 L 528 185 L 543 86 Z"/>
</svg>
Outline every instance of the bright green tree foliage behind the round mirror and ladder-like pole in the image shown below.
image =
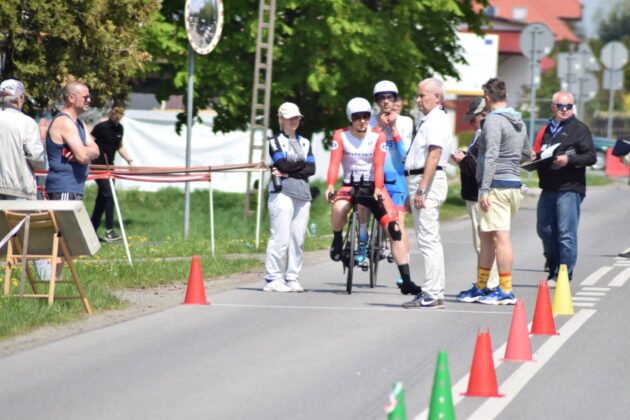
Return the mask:
<svg viewBox="0 0 630 420">
<path fill-rule="evenodd" d="M 186 89 L 182 3 L 164 0 L 161 18 L 145 37 L 162 78 L 158 99 Z M 485 6 L 487 0 L 476 3 Z M 411 98 L 422 78 L 455 74 L 461 61 L 456 29 L 467 25 L 479 33 L 485 18 L 475 10 L 470 0 L 278 1 L 272 109 L 294 101 L 306 116 L 304 132 L 330 133 L 347 124 L 347 101 L 371 99 L 378 80 L 396 82 Z M 258 1 L 225 1 L 224 15 L 217 48 L 195 57 L 194 92 L 194 111 L 215 109 L 215 130 L 222 132 L 249 123 Z"/>
</svg>

